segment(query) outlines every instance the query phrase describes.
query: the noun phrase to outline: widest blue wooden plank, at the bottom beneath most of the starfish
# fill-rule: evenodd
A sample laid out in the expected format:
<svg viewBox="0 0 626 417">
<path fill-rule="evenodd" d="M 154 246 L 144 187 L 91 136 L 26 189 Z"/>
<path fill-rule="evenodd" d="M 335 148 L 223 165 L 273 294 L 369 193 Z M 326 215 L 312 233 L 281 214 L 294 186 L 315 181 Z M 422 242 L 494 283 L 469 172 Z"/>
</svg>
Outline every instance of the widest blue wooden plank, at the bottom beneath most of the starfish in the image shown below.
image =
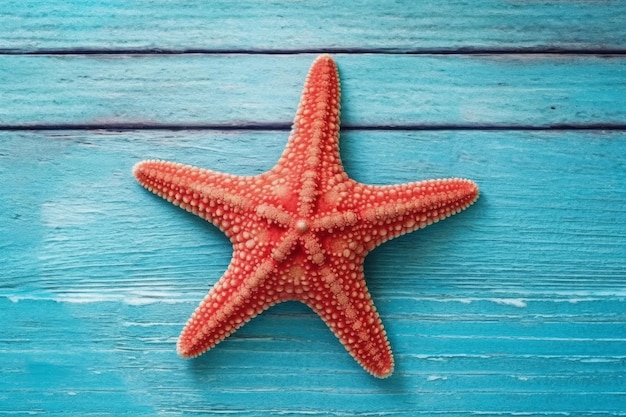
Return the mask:
<svg viewBox="0 0 626 417">
<path fill-rule="evenodd" d="M 621 415 L 625 139 L 344 133 L 359 181 L 465 176 L 482 190 L 368 257 L 397 361 L 375 380 L 296 303 L 197 360 L 175 354 L 230 247 L 130 169 L 163 158 L 252 175 L 284 132 L 0 132 L 0 413 Z"/>
</svg>

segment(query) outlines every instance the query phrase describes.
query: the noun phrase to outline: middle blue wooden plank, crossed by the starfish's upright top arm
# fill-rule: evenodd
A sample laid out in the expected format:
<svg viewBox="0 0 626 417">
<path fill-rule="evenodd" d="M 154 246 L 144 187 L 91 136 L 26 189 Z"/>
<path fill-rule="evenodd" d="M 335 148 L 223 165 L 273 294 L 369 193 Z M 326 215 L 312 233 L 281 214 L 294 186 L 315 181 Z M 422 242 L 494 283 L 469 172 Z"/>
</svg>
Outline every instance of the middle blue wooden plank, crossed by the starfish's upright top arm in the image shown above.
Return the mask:
<svg viewBox="0 0 626 417">
<path fill-rule="evenodd" d="M 0 56 L 0 124 L 280 124 L 315 55 Z M 626 59 L 338 55 L 344 126 L 626 123 Z"/>
</svg>

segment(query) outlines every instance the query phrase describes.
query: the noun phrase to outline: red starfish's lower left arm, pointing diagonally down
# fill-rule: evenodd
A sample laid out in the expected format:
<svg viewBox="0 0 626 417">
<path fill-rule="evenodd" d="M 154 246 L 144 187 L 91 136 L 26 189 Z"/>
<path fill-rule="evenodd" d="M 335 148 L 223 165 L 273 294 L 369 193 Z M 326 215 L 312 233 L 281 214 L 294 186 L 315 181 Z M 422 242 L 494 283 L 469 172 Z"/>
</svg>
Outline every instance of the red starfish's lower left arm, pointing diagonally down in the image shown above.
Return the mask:
<svg viewBox="0 0 626 417">
<path fill-rule="evenodd" d="M 267 294 L 267 280 L 274 265 L 260 262 L 254 270 L 242 257 L 233 260 L 191 315 L 178 338 L 177 351 L 194 358 L 234 333 L 276 302 Z"/>
</svg>

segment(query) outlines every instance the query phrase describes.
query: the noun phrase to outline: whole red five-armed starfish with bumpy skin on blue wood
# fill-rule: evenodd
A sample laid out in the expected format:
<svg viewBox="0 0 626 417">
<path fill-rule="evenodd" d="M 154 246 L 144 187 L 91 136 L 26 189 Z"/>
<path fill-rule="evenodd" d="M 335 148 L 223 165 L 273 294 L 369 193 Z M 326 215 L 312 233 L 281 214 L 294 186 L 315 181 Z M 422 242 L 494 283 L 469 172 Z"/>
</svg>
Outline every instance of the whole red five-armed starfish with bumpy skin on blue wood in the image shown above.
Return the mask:
<svg viewBox="0 0 626 417">
<path fill-rule="evenodd" d="M 458 213 L 478 198 L 465 179 L 360 184 L 339 157 L 339 79 L 315 60 L 280 160 L 252 177 L 163 161 L 134 167 L 149 191 L 219 227 L 233 245 L 222 278 L 193 313 L 178 353 L 211 349 L 270 306 L 299 300 L 376 377 L 393 372 L 387 336 L 363 276 L 381 243 Z"/>
</svg>

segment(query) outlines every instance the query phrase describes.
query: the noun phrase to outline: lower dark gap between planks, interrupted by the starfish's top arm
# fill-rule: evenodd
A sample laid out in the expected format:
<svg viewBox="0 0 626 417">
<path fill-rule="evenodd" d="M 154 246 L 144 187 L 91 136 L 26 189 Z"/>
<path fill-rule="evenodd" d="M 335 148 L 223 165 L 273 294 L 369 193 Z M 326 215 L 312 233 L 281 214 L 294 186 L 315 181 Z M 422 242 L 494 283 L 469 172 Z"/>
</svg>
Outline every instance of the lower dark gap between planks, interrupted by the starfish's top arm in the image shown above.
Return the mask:
<svg viewBox="0 0 626 417">
<path fill-rule="evenodd" d="M 171 123 L 105 123 L 105 124 L 26 124 L 0 125 L 0 131 L 46 131 L 46 130 L 219 130 L 219 131 L 289 131 L 291 123 L 243 123 L 243 124 L 171 124 Z M 626 123 L 591 123 L 554 124 L 554 125 L 344 125 L 342 131 L 580 131 L 580 130 L 610 130 L 626 131 Z"/>
</svg>

